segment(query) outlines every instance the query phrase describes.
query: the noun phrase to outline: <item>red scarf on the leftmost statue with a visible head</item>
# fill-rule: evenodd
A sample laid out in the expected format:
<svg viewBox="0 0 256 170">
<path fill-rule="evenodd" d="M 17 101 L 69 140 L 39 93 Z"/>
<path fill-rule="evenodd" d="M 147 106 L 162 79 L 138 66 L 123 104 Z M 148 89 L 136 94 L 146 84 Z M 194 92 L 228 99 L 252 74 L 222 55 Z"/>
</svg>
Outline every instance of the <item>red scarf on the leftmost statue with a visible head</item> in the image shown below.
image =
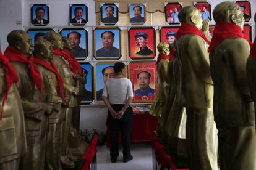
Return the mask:
<svg viewBox="0 0 256 170">
<path fill-rule="evenodd" d="M 33 82 L 35 83 L 36 87 L 40 91 L 43 87 L 43 82 L 41 79 L 41 75 L 35 65 L 33 65 L 34 57 L 33 55 L 30 56 L 28 59 L 24 54 L 22 54 L 19 50 L 15 49 L 12 46 L 8 46 L 6 51 L 4 51 L 4 55 L 10 60 L 14 62 L 21 62 L 21 63 L 27 63 L 30 68 L 30 75 L 32 76 Z M 40 101 L 41 101 L 41 95 L 40 95 Z"/>
</svg>

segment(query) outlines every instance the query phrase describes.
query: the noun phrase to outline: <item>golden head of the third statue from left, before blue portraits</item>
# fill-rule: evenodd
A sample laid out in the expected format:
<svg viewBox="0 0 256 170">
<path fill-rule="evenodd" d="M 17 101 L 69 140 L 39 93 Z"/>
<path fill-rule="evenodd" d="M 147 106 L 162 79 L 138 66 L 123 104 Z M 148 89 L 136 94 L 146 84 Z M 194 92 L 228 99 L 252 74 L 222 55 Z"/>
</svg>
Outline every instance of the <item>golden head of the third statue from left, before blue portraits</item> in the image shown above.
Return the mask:
<svg viewBox="0 0 256 170">
<path fill-rule="evenodd" d="M 62 37 L 59 33 L 55 33 L 54 31 L 50 31 L 48 33 L 45 33 L 45 36 L 43 36 L 45 39 L 47 39 L 51 44 L 53 44 L 54 47 L 58 48 L 59 50 L 62 50 L 64 47 L 64 43 L 62 41 Z"/>
</svg>

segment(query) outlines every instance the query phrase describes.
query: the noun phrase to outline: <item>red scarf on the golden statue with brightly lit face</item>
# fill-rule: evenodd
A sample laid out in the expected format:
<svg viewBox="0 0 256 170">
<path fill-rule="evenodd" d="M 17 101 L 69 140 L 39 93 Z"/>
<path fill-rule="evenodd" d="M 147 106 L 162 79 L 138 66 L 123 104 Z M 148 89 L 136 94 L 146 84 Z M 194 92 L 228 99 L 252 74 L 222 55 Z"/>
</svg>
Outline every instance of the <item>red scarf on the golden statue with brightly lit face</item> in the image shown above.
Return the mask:
<svg viewBox="0 0 256 170">
<path fill-rule="evenodd" d="M 202 37 L 205 40 L 205 42 L 207 42 L 207 44 L 211 43 L 207 39 L 205 34 L 203 34 L 202 31 L 197 28 L 197 26 L 189 24 L 189 23 L 181 23 L 181 27 L 177 31 L 176 39 L 178 40 L 178 39 L 180 39 L 182 36 L 184 36 L 186 34 L 198 35 L 198 36 Z M 176 58 L 176 47 L 173 48 L 173 50 L 171 51 L 170 55 L 173 56 L 173 57 L 171 57 L 172 59 Z"/>
</svg>

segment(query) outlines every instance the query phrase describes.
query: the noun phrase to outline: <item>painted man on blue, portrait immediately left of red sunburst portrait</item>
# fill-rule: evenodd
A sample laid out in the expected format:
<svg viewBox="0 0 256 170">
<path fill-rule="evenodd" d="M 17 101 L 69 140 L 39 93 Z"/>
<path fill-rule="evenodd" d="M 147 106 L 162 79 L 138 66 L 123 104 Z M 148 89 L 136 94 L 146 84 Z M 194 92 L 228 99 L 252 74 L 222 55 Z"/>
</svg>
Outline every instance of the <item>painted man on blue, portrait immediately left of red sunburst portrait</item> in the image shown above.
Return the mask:
<svg viewBox="0 0 256 170">
<path fill-rule="evenodd" d="M 103 47 L 96 51 L 96 57 L 118 57 L 120 55 L 120 50 L 113 46 L 113 32 L 105 31 L 101 33 L 101 40 Z"/>
</svg>

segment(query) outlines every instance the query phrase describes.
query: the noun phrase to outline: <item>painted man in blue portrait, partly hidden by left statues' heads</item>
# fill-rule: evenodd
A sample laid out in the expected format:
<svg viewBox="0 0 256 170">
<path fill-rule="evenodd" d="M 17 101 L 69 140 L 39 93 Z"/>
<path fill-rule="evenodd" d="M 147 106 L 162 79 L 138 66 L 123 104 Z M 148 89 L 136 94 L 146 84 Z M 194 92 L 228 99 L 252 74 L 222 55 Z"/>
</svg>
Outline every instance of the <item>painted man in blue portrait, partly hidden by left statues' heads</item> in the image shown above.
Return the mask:
<svg viewBox="0 0 256 170">
<path fill-rule="evenodd" d="M 69 38 L 71 42 L 71 53 L 75 57 L 86 57 L 87 51 L 79 46 L 81 42 L 81 34 L 77 31 L 72 31 L 71 33 L 67 34 L 67 38 Z"/>
</svg>

